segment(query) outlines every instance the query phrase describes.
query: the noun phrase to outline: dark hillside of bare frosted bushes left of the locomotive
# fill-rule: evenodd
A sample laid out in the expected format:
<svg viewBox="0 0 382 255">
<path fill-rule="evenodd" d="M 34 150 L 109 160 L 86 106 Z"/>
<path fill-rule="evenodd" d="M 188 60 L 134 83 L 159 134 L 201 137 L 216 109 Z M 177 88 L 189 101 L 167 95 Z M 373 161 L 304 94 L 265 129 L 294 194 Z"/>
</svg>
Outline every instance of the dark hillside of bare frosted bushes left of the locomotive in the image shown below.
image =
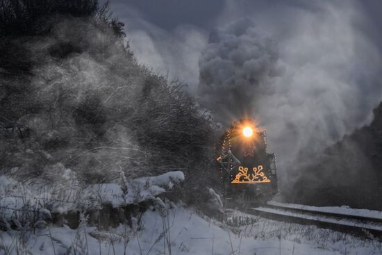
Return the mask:
<svg viewBox="0 0 382 255">
<path fill-rule="evenodd" d="M 209 118 L 179 83 L 136 62 L 107 8 L 93 0 L 57 2 L 26 4 L 30 24 L 15 24 L 13 33 L 0 29 L 6 53 L 0 54 L 0 171 L 53 183 L 58 165 L 82 183 L 115 181 L 120 171 L 132 179 L 182 170 L 189 180 L 204 180 Z M 73 8 L 77 3 L 83 12 Z M 42 19 L 33 16 L 44 8 Z M 6 11 L 17 6 L 0 8 Z"/>
</svg>

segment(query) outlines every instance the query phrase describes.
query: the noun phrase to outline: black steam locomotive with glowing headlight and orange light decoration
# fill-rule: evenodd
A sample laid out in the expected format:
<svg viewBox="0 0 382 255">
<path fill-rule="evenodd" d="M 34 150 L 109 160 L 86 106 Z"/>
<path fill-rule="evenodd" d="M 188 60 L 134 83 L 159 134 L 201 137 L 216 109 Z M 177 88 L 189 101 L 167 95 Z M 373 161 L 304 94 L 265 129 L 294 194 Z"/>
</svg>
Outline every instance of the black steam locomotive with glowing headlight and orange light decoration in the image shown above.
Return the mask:
<svg viewBox="0 0 382 255">
<path fill-rule="evenodd" d="M 217 142 L 217 165 L 226 207 L 263 204 L 278 192 L 276 156 L 267 152 L 265 129 L 253 119 L 233 122 Z"/>
</svg>

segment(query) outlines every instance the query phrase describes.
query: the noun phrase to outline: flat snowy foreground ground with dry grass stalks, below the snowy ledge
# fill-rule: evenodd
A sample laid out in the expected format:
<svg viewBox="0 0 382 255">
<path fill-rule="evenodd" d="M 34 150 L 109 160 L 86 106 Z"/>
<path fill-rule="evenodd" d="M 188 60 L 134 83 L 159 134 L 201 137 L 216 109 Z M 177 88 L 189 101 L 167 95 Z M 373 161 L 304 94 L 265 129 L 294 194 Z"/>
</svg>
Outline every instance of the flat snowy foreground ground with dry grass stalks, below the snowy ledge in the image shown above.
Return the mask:
<svg viewBox="0 0 382 255">
<path fill-rule="evenodd" d="M 244 224 L 244 219 L 253 222 Z M 238 211 L 230 220 L 229 231 L 225 224 L 175 206 L 167 215 L 147 211 L 140 223 L 133 222 L 133 228 L 120 225 L 110 231 L 97 231 L 83 220 L 78 229 L 0 232 L 0 254 L 382 254 L 381 243 L 376 240 L 359 240 L 344 233 L 274 222 Z M 234 221 L 241 221 L 241 226 Z"/>
</svg>

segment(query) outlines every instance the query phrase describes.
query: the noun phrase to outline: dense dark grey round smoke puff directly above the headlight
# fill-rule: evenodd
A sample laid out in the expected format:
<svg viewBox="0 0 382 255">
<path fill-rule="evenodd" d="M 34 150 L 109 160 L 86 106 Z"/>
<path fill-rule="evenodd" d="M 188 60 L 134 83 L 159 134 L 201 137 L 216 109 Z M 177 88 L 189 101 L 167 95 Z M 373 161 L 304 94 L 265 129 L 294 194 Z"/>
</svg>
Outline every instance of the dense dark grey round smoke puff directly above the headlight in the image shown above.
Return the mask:
<svg viewBox="0 0 382 255">
<path fill-rule="evenodd" d="M 219 28 L 199 58 L 201 104 L 224 123 L 253 115 L 256 101 L 273 93 L 278 58 L 276 44 L 249 17 Z"/>
</svg>

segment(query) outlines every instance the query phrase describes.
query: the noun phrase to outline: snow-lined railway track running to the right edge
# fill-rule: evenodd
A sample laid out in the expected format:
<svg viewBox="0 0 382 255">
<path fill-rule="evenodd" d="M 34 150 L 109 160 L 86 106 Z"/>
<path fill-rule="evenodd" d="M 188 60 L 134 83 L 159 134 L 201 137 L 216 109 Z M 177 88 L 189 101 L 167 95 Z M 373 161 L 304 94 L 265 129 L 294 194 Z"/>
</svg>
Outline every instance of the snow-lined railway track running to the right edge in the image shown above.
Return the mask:
<svg viewBox="0 0 382 255">
<path fill-rule="evenodd" d="M 282 203 L 269 203 L 251 208 L 249 213 L 276 221 L 315 225 L 324 229 L 352 233 L 363 238 L 382 239 L 382 217 L 319 211 L 316 208 L 313 210 L 304 206 L 297 207 Z"/>
</svg>

